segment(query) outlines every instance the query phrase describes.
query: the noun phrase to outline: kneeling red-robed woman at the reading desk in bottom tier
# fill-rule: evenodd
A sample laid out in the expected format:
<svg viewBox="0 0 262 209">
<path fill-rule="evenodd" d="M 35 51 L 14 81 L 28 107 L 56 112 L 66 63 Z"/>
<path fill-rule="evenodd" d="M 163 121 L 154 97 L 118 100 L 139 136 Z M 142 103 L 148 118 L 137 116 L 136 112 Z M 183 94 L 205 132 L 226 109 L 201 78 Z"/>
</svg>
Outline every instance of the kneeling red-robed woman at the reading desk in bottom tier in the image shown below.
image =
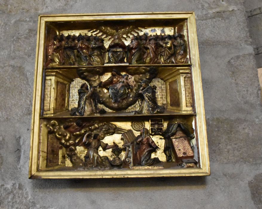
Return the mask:
<svg viewBox="0 0 262 209">
<path fill-rule="evenodd" d="M 137 136 L 136 142 L 139 146 L 137 153 L 135 154 L 136 164 L 149 166 L 161 162 L 158 157 L 151 158 L 152 152 L 157 150 L 159 147 L 157 147 L 156 143 L 148 134 L 147 128 L 140 130 L 140 135 Z"/>
</svg>

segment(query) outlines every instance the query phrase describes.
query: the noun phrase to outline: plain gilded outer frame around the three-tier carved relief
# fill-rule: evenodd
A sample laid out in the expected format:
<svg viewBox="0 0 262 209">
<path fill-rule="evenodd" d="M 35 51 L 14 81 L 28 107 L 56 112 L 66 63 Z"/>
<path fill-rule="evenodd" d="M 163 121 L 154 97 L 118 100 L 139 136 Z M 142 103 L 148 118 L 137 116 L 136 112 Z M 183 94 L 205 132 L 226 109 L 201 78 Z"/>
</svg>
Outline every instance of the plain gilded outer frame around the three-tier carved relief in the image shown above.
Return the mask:
<svg viewBox="0 0 262 209">
<path fill-rule="evenodd" d="M 139 169 L 139 170 L 74 170 L 74 171 L 39 171 L 39 136 L 43 63 L 45 52 L 45 30 L 47 22 L 56 21 L 102 21 L 136 19 L 187 19 L 189 45 L 191 52 L 192 79 L 194 83 L 194 102 L 197 120 L 200 167 L 186 169 Z M 37 32 L 36 64 L 33 92 L 33 110 L 31 127 L 31 146 L 29 178 L 31 179 L 66 179 L 66 178 L 119 178 L 119 177 L 160 177 L 160 176 L 208 176 L 210 175 L 209 154 L 206 135 L 206 121 L 200 62 L 197 44 L 197 31 L 194 12 L 164 13 L 107 13 L 107 14 L 68 14 L 40 15 Z"/>
</svg>

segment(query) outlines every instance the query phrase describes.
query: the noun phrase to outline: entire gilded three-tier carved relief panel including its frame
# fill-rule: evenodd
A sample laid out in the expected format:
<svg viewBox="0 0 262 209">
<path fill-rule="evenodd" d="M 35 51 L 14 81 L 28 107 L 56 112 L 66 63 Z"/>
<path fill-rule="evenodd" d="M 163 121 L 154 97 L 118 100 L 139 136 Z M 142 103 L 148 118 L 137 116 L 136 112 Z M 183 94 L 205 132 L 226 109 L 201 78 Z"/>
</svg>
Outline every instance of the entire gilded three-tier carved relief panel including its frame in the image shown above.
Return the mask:
<svg viewBox="0 0 262 209">
<path fill-rule="evenodd" d="M 39 17 L 30 178 L 209 175 L 194 13 Z"/>
</svg>

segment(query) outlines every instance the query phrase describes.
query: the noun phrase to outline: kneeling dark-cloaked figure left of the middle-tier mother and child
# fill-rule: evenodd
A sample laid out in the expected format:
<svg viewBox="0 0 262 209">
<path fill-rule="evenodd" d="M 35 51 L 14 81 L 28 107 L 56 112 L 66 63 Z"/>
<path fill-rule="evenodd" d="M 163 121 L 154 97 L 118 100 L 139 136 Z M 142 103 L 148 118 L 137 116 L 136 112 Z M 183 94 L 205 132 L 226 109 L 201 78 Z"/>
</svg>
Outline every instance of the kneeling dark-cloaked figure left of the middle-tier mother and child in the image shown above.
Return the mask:
<svg viewBox="0 0 262 209">
<path fill-rule="evenodd" d="M 92 99 L 93 90 L 89 91 L 88 85 L 83 83 L 78 90 L 78 105 L 71 109 L 72 116 L 89 116 L 96 113 L 96 108 Z"/>
</svg>

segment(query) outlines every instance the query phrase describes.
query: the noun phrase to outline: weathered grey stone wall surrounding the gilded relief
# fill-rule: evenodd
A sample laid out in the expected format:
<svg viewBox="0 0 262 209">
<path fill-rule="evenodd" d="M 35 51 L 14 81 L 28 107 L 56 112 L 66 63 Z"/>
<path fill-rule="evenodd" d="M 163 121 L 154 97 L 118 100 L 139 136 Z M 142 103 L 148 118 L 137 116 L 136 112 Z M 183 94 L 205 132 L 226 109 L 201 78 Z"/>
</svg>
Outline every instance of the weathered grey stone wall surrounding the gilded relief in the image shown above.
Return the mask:
<svg viewBox="0 0 262 209">
<path fill-rule="evenodd" d="M 211 176 L 28 179 L 38 15 L 143 11 L 196 13 Z M 240 0 L 2 0 L 0 208 L 261 208 L 262 111 L 246 18 Z"/>
</svg>

